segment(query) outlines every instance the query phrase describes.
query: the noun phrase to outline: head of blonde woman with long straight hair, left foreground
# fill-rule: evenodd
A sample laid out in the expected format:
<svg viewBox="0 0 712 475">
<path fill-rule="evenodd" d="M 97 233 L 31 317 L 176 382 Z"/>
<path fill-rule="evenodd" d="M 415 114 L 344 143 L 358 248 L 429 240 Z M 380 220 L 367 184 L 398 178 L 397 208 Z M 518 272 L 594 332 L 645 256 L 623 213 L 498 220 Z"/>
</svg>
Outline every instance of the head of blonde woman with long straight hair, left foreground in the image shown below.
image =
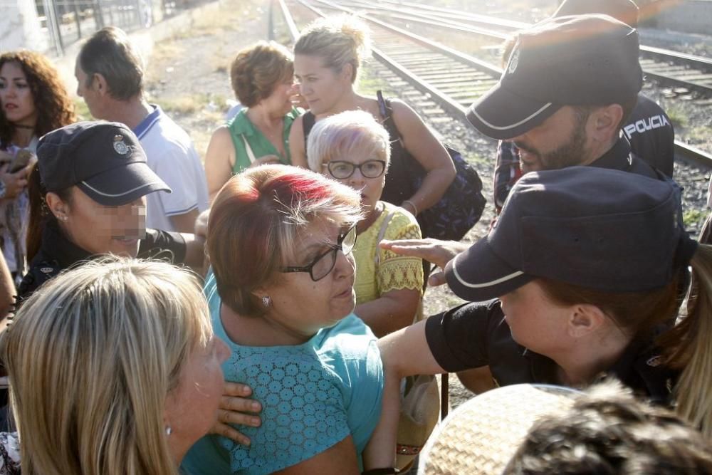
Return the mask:
<svg viewBox="0 0 712 475">
<path fill-rule="evenodd" d="M 177 474 L 216 420 L 228 355 L 188 271 L 108 258 L 54 278 L 2 336 L 22 473 Z M 17 438 L 0 441 L 15 473 Z"/>
</svg>

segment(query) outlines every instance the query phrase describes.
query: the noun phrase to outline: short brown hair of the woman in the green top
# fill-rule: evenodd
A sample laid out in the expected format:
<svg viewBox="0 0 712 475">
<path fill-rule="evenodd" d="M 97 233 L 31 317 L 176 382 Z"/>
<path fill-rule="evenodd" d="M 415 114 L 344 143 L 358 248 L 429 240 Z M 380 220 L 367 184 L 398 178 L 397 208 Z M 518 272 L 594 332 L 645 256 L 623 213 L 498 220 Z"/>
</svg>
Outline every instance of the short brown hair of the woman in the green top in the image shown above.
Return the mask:
<svg viewBox="0 0 712 475">
<path fill-rule="evenodd" d="M 274 41 L 258 41 L 240 50 L 230 67 L 232 90 L 248 108 L 268 98 L 278 83 L 293 75 L 292 54 Z"/>
</svg>

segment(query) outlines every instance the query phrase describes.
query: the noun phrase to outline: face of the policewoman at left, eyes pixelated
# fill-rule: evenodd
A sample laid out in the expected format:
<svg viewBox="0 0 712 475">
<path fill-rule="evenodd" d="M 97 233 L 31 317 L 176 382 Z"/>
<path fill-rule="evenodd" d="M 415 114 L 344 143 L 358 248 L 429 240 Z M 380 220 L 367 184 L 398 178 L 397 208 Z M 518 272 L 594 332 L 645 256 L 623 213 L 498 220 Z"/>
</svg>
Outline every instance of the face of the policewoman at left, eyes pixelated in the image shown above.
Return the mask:
<svg viewBox="0 0 712 475">
<path fill-rule="evenodd" d="M 146 231 L 145 197 L 109 207 L 98 204 L 78 187 L 72 187 L 71 204 L 51 204 L 50 207 L 67 238 L 85 251 L 129 257 L 138 254 L 139 240 Z"/>
</svg>

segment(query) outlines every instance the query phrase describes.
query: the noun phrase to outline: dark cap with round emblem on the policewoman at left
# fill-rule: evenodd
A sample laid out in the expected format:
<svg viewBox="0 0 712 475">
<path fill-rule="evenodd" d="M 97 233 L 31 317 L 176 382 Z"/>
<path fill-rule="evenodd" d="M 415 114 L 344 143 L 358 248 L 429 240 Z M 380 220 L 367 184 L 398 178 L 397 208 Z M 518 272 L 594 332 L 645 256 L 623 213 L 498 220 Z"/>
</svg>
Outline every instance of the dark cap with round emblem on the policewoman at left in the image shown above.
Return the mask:
<svg viewBox="0 0 712 475">
<path fill-rule="evenodd" d="M 171 192 L 148 167 L 136 135 L 117 122 L 78 122 L 48 132 L 37 146 L 37 164 L 48 192 L 76 185 L 105 206 Z"/>
</svg>

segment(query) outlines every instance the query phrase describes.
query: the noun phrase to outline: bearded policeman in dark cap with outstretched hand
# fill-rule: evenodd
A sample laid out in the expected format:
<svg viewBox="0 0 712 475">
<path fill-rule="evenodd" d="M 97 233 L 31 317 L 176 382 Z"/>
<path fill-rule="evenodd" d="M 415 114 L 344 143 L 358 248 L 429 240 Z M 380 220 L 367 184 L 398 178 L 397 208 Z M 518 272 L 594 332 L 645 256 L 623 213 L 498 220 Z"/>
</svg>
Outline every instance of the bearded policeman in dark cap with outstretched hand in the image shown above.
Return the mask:
<svg viewBox="0 0 712 475">
<path fill-rule="evenodd" d="M 642 87 L 638 55 L 637 31 L 610 16 L 545 20 L 519 34 L 501 80 L 467 118 L 484 135 L 512 142 L 523 172 L 589 165 L 662 178 L 620 133 Z M 468 247 L 433 239 L 381 245 L 441 268 Z M 443 273 L 429 278 L 444 282 Z"/>
</svg>

